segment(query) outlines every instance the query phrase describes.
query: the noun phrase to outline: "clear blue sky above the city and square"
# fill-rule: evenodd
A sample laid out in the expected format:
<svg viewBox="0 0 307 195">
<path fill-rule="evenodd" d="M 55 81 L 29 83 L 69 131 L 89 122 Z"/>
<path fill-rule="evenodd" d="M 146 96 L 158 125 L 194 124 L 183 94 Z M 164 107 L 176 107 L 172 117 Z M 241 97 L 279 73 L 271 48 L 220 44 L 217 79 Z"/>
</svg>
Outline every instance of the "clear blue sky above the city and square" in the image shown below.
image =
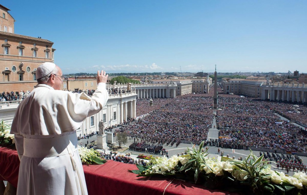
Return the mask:
<svg viewBox="0 0 307 195">
<path fill-rule="evenodd" d="M 307 1 L 1 3 L 15 33 L 54 42 L 63 73 L 307 73 Z"/>
</svg>

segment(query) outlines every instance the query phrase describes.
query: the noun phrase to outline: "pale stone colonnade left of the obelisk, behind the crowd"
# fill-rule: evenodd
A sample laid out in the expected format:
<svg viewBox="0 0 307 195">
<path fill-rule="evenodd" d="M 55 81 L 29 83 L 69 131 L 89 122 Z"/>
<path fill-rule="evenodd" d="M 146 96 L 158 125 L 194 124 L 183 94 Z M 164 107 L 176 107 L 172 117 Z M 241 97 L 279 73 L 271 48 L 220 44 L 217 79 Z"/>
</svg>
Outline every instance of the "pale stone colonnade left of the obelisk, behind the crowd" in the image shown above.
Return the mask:
<svg viewBox="0 0 307 195">
<path fill-rule="evenodd" d="M 143 98 L 176 98 L 175 88 L 143 88 L 136 89 L 139 99 Z"/>
</svg>

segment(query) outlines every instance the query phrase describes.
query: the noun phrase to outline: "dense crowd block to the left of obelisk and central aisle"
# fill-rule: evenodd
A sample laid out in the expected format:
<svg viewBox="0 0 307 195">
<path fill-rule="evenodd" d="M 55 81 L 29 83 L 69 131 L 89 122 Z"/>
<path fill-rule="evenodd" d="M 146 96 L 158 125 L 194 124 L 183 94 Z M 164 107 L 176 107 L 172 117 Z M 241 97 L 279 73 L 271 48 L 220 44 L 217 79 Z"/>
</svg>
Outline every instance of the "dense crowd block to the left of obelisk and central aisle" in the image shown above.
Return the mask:
<svg viewBox="0 0 307 195">
<path fill-rule="evenodd" d="M 178 147 L 181 140 L 199 144 L 207 140 L 208 130 L 212 126 L 212 97 L 200 94 L 180 96 L 176 99 L 155 99 L 156 111 L 148 113 L 142 120 L 115 129 L 115 133 L 126 132 L 140 137 L 151 144 L 169 144 Z M 149 106 L 146 99 L 138 100 L 144 108 Z M 142 109 L 141 108 L 141 109 Z M 144 114 L 144 113 L 143 113 Z"/>
</svg>

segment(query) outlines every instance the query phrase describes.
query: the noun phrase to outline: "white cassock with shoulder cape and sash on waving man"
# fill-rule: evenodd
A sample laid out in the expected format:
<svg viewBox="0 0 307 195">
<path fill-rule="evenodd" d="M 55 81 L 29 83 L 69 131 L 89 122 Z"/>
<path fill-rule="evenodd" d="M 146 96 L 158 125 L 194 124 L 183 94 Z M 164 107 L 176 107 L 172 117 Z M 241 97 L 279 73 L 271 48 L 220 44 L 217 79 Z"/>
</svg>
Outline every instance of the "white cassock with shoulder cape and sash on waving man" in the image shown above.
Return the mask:
<svg viewBox="0 0 307 195">
<path fill-rule="evenodd" d="M 76 129 L 108 97 L 105 83 L 92 97 L 38 84 L 21 101 L 11 127 L 20 159 L 17 194 L 87 194 Z"/>
</svg>

